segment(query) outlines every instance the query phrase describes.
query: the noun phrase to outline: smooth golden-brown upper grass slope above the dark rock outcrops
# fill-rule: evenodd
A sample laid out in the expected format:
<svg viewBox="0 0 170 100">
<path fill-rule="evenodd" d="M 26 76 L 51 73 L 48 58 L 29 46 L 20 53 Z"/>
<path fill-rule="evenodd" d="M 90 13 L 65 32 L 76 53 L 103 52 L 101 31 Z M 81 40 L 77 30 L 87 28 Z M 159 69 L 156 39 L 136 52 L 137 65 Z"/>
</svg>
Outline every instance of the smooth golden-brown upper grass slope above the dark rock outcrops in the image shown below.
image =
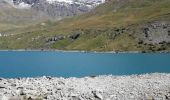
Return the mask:
<svg viewBox="0 0 170 100">
<path fill-rule="evenodd" d="M 126 26 L 170 13 L 169 0 L 120 0 L 106 3 L 94 11 L 63 21 L 59 28 L 105 28 Z M 118 7 L 114 7 L 118 6 Z"/>
</svg>

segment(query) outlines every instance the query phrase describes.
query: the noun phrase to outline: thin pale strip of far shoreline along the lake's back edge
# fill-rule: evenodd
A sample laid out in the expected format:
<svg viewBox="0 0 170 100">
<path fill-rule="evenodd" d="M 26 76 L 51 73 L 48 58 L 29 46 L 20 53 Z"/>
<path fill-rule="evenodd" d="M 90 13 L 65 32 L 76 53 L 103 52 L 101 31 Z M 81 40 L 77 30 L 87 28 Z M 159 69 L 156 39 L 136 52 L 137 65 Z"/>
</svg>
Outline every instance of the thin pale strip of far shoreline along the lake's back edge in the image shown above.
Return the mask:
<svg viewBox="0 0 170 100">
<path fill-rule="evenodd" d="M 132 54 L 136 54 L 136 53 L 170 53 L 170 51 L 86 51 L 86 50 L 58 50 L 58 49 L 14 49 L 14 50 L 8 50 L 8 49 L 4 49 L 4 50 L 0 50 L 0 51 L 35 51 L 35 52 L 76 52 L 76 53 L 110 53 L 110 54 L 123 54 L 123 53 L 132 53 Z"/>
</svg>

